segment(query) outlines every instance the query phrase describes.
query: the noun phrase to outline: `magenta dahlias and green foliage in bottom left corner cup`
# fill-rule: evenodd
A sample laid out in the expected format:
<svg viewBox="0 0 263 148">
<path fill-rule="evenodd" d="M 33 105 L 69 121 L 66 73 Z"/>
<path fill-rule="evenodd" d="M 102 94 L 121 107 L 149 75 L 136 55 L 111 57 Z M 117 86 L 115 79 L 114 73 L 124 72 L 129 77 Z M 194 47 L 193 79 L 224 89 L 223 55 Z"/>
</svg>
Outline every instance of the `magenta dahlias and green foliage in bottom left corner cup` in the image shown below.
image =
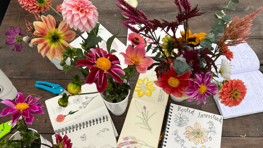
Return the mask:
<svg viewBox="0 0 263 148">
<path fill-rule="evenodd" d="M 32 124 L 34 121 L 34 116 L 32 114 L 44 114 L 42 107 L 44 107 L 40 103 L 36 103 L 40 98 L 31 99 L 31 95 L 29 95 L 26 99 L 24 98 L 21 92 L 18 92 L 18 97 L 15 98 L 15 102 L 12 100 L 3 100 L 1 103 L 6 104 L 10 107 L 6 107 L 0 114 L 2 116 L 12 115 L 11 124 L 17 124 L 14 128 L 20 132 L 20 136 L 22 139 L 14 140 L 14 136 L 9 140 L 4 139 L 0 140 L 0 147 L 13 147 L 13 148 L 36 148 L 41 147 L 41 145 L 45 145 L 47 147 L 51 147 L 47 144 L 41 143 L 39 132 L 33 132 L 31 129 L 27 128 L 27 124 Z M 22 120 L 19 119 L 22 116 Z M 63 139 L 60 135 L 56 135 L 57 144 L 52 145 L 52 148 L 61 148 L 63 146 L 67 146 L 67 148 L 72 147 L 72 143 L 68 136 L 64 136 Z"/>
</svg>

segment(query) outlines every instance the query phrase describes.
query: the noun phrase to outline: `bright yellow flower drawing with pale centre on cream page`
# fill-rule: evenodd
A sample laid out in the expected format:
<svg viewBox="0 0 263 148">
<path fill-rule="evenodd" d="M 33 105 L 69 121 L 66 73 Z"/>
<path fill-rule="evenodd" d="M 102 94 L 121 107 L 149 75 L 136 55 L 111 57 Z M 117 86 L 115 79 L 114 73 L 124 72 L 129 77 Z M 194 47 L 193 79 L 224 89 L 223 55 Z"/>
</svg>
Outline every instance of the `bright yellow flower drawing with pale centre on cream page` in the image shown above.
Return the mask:
<svg viewBox="0 0 263 148">
<path fill-rule="evenodd" d="M 152 85 L 153 85 L 153 81 L 149 82 L 148 78 L 143 79 L 143 81 L 141 79 L 138 79 L 134 91 L 136 92 L 138 91 L 139 97 L 142 97 L 144 94 L 148 97 L 151 97 L 152 91 L 156 90 L 156 88 L 153 87 Z"/>
</svg>

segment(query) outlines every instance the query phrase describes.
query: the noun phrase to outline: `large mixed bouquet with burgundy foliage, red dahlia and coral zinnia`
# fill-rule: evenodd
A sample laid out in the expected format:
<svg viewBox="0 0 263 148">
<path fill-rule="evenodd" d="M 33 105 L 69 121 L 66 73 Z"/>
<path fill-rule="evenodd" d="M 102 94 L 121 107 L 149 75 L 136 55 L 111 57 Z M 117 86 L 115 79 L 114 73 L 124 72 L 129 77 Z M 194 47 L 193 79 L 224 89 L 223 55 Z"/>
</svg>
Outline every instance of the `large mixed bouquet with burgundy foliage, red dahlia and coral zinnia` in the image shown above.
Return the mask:
<svg viewBox="0 0 263 148">
<path fill-rule="evenodd" d="M 149 70 L 157 66 L 155 72 L 158 80 L 154 81 L 155 85 L 177 98 L 185 98 L 184 96 L 187 95 L 188 101 L 196 99 L 198 104 L 201 100 L 205 104 L 206 98 L 210 95 L 229 107 L 239 105 L 244 99 L 247 90 L 244 82 L 230 79 L 232 67 L 228 61 L 231 61 L 234 55 L 228 47 L 245 43 L 247 38 L 244 37 L 250 34 L 252 20 L 262 11 L 262 7 L 242 19 L 239 17 L 231 19 L 224 13 L 226 10 L 235 10 L 231 6 L 238 4 L 239 1 L 230 0 L 222 5 L 224 13 L 216 11 L 221 18 L 214 19 L 216 24 L 211 25 L 212 30 L 207 34 L 192 33 L 188 29 L 190 18 L 204 14 L 198 12 L 198 5 L 192 7 L 188 0 L 174 0 L 179 10 L 177 21 L 167 22 L 162 19 L 163 23 L 156 19 L 148 20 L 143 11 L 130 6 L 124 0 L 117 2 L 121 6 L 116 5 L 125 13 L 123 15 L 130 18 L 121 23 L 134 32 L 128 37 L 132 45 L 142 46 L 143 37 L 146 37 L 151 40 L 147 51 L 154 47 L 153 53 L 157 52 L 152 57 L 157 62 L 148 67 Z M 138 26 L 139 29 L 133 25 Z M 181 36 L 176 36 L 179 25 L 183 25 L 184 30 L 180 32 Z M 155 34 L 158 28 L 166 33 L 163 39 Z M 224 35 L 219 38 L 219 33 Z M 215 48 L 212 47 L 213 43 L 216 44 Z M 221 67 L 217 68 L 215 61 L 219 56 L 225 56 L 228 61 L 223 59 Z M 224 80 L 218 81 L 219 77 Z"/>
</svg>

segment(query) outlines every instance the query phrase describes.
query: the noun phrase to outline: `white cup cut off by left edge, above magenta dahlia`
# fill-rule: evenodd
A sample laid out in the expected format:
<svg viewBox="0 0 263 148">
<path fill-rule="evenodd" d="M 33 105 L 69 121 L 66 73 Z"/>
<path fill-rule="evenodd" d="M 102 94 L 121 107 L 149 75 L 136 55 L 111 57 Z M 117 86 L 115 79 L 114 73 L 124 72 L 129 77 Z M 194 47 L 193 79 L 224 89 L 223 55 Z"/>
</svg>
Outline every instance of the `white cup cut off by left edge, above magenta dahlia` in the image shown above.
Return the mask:
<svg viewBox="0 0 263 148">
<path fill-rule="evenodd" d="M 12 82 L 7 78 L 4 72 L 0 69 L 0 99 L 6 100 L 15 99 L 17 90 L 13 86 Z"/>
</svg>

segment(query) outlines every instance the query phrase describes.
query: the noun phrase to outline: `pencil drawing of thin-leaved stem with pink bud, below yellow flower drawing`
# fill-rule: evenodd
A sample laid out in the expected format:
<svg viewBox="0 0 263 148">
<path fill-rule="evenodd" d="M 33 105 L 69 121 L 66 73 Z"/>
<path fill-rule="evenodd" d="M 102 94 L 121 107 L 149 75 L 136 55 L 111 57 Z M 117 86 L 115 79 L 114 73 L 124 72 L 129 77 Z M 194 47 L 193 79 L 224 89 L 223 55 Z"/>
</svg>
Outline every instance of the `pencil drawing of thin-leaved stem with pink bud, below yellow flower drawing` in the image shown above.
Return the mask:
<svg viewBox="0 0 263 148">
<path fill-rule="evenodd" d="M 150 130 L 152 132 L 152 128 L 150 127 L 148 121 L 156 113 L 156 111 L 152 115 L 148 116 L 149 111 L 146 111 L 146 106 L 143 106 L 143 110 L 142 110 L 141 105 L 139 104 L 137 100 L 135 100 L 135 105 L 136 105 L 137 110 L 142 114 L 142 117 L 139 117 L 139 116 L 136 116 L 136 117 L 141 118 L 143 121 L 143 123 L 136 123 L 136 124 L 143 124 L 145 127 L 141 127 L 141 128 Z"/>
</svg>

